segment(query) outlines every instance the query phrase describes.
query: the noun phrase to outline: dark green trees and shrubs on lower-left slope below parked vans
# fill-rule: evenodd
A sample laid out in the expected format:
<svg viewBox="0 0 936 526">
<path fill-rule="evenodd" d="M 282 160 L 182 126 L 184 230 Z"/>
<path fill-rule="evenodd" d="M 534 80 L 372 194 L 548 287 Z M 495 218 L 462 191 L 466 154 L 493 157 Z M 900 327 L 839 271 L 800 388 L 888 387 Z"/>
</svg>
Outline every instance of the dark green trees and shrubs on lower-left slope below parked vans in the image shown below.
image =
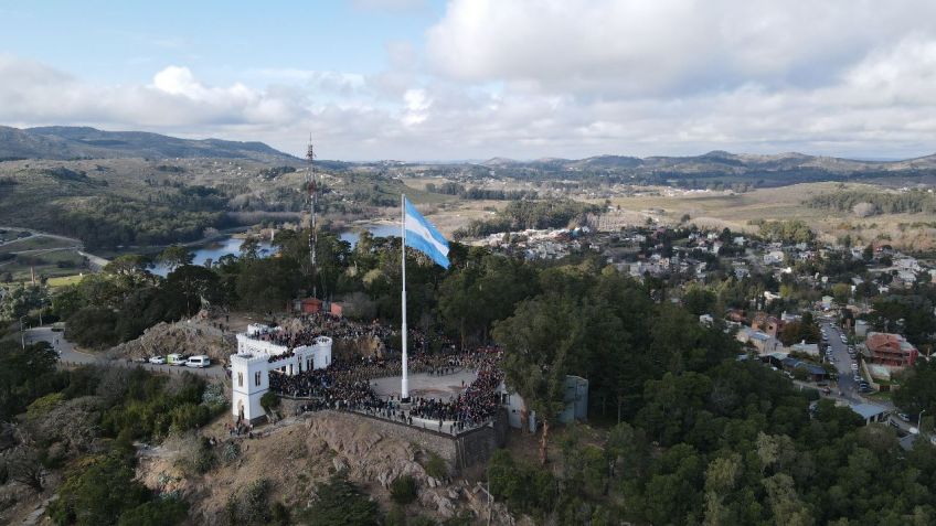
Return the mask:
<svg viewBox="0 0 936 526">
<path fill-rule="evenodd" d="M 136 476 L 135 440 L 204 426 L 227 408 L 224 395 L 191 375 L 141 368 L 56 368 L 45 342 L 0 341 L 0 484 L 42 493 L 61 472 L 46 511 L 56 525 L 173 525 L 188 505 L 157 495 Z M 17 421 L 10 432 L 11 421 Z M 199 465 L 182 466 L 198 470 Z M 202 466 L 203 468 L 203 466 Z"/>
</svg>

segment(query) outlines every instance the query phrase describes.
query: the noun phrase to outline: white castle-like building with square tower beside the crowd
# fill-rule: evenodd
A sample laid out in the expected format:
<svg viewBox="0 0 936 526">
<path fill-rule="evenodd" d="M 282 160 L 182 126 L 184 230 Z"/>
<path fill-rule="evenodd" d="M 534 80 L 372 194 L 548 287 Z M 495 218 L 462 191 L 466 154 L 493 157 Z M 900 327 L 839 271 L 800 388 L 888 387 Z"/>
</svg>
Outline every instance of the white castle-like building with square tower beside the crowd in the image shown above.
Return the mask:
<svg viewBox="0 0 936 526">
<path fill-rule="evenodd" d="M 318 336 L 312 345 L 288 347 L 277 343 L 280 328 L 251 324 L 237 334 L 237 354 L 231 355 L 231 414 L 255 421 L 266 414 L 260 397 L 269 390 L 269 375 L 297 375 L 331 364 L 331 339 Z"/>
</svg>

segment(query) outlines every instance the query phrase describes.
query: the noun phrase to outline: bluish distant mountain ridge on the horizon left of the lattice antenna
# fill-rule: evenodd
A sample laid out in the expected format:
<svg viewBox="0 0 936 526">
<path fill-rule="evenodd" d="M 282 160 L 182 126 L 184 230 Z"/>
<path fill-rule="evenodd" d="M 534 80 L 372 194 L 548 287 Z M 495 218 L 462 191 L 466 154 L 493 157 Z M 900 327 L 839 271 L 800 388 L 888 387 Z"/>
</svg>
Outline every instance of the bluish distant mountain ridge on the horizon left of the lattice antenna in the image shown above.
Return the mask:
<svg viewBox="0 0 936 526">
<path fill-rule="evenodd" d="M 104 131 L 89 127 L 0 126 L 0 159 L 219 158 L 270 163 L 301 160 L 263 142 L 180 139 L 146 131 Z"/>
</svg>

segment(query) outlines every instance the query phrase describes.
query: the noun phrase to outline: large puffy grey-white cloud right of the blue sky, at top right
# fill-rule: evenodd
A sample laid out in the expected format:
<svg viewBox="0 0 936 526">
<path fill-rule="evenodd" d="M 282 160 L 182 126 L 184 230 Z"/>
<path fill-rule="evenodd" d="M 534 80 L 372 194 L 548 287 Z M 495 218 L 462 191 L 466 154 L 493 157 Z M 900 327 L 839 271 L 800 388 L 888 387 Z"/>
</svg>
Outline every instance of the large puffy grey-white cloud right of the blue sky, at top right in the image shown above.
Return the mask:
<svg viewBox="0 0 936 526">
<path fill-rule="evenodd" d="M 810 85 L 905 33 L 936 4 L 897 0 L 454 0 L 427 33 L 430 64 L 468 82 L 684 94 L 758 82 Z"/>
</svg>

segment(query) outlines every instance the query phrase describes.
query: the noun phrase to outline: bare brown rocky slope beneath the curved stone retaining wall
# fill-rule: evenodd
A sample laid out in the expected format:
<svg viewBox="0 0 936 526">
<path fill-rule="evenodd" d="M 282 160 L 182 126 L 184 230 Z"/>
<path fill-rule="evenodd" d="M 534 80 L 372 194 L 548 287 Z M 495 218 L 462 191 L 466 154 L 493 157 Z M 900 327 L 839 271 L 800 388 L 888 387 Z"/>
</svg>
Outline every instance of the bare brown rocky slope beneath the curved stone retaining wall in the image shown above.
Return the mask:
<svg viewBox="0 0 936 526">
<path fill-rule="evenodd" d="M 203 431 L 212 433 L 231 440 L 221 422 Z M 145 452 L 138 474 L 148 486 L 178 492 L 192 503 L 188 524 L 223 524 L 228 501 L 258 480 L 266 480 L 287 506 L 305 507 L 315 501 L 316 489 L 338 471 L 385 509 L 391 505 L 391 482 L 410 475 L 418 487 L 414 506 L 424 515 L 445 519 L 460 512 L 488 514 L 487 497 L 477 484 L 458 476 L 433 477 L 426 468 L 429 451 L 361 417 L 309 414 L 277 423 L 262 438 L 234 440 L 240 447 L 236 455 L 204 475 L 187 472 L 192 444 L 198 442 L 191 437 L 172 438 Z M 492 518 L 492 524 L 514 524 L 500 505 L 494 505 Z"/>
</svg>

